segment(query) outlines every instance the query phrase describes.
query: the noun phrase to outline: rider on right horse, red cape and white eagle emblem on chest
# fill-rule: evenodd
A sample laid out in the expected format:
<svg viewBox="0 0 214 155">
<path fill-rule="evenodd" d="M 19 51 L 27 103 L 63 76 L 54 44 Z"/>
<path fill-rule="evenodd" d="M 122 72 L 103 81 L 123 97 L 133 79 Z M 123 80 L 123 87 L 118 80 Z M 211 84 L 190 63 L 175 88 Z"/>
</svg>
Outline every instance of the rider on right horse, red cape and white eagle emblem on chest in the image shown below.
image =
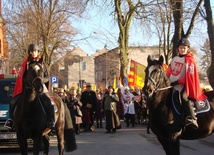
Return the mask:
<svg viewBox="0 0 214 155">
<path fill-rule="evenodd" d="M 178 55 L 172 59 L 167 69 L 171 85 L 179 91 L 185 111 L 185 126 L 198 128 L 197 117 L 193 108 L 193 101 L 204 100 L 207 97 L 200 89 L 199 76 L 193 54 L 190 51 L 190 42 L 182 38 L 178 42 Z"/>
</svg>

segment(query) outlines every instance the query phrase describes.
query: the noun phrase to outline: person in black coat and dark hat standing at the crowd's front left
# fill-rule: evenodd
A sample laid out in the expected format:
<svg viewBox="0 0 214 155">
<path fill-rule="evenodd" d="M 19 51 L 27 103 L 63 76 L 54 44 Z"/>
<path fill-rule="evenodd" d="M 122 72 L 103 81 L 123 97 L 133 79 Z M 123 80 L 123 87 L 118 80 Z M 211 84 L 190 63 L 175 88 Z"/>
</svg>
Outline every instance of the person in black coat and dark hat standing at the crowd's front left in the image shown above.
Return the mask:
<svg viewBox="0 0 214 155">
<path fill-rule="evenodd" d="M 96 93 L 91 89 L 91 85 L 86 84 L 86 90 L 82 92 L 80 102 L 82 103 L 82 121 L 85 127 L 85 132 L 93 130 L 94 125 L 94 111 L 97 104 Z"/>
</svg>

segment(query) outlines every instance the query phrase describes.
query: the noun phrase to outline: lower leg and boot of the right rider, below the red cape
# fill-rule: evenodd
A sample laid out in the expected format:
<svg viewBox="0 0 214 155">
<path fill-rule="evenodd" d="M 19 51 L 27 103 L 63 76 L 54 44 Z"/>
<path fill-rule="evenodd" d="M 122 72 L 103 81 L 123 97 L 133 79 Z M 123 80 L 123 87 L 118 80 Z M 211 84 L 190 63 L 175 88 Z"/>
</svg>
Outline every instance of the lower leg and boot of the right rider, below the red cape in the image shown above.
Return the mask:
<svg viewBox="0 0 214 155">
<path fill-rule="evenodd" d="M 195 115 L 194 107 L 192 106 L 192 104 L 193 103 L 190 100 L 188 102 L 183 103 L 186 114 L 185 126 L 197 129 L 198 128 L 197 117 Z"/>
</svg>

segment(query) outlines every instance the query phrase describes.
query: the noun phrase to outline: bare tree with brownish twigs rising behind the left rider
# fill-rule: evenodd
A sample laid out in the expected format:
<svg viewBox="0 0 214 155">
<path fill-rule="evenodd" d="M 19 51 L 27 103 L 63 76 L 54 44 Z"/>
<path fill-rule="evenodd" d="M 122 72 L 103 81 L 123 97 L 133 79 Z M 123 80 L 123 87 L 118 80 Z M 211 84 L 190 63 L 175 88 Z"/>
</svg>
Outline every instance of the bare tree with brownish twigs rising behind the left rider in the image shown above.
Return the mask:
<svg viewBox="0 0 214 155">
<path fill-rule="evenodd" d="M 4 16 L 10 52 L 23 59 L 30 43 L 39 44 L 45 62 L 50 66 L 54 56 L 59 56 L 57 53 L 71 48 L 76 35 L 72 18 L 80 16 L 84 8 L 83 1 L 79 0 L 9 0 Z"/>
</svg>

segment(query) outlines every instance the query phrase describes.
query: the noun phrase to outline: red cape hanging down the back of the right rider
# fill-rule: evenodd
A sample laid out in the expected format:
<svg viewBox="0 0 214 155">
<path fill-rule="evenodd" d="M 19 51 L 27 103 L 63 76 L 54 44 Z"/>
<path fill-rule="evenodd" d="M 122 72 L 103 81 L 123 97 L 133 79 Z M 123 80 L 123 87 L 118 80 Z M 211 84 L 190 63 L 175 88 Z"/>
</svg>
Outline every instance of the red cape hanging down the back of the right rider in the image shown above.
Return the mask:
<svg viewBox="0 0 214 155">
<path fill-rule="evenodd" d="M 207 97 L 202 93 L 196 63 L 192 53 L 189 52 L 186 56 L 186 82 L 185 92 L 191 98 L 197 101 L 204 100 Z"/>
</svg>

